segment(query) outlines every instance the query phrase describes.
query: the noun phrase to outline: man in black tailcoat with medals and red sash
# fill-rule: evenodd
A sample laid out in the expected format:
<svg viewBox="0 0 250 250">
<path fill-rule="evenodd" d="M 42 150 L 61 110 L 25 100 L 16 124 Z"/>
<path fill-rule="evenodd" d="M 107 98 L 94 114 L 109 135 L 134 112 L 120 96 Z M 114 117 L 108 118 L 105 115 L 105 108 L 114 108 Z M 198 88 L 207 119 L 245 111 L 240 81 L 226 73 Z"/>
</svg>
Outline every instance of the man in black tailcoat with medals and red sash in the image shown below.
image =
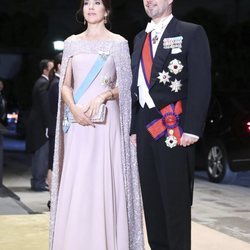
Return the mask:
<svg viewBox="0 0 250 250">
<path fill-rule="evenodd" d="M 172 15 L 173 0 L 143 0 L 152 21 L 135 38 L 131 141 L 152 250 L 191 249 L 194 144 L 210 98 L 201 26 Z"/>
</svg>

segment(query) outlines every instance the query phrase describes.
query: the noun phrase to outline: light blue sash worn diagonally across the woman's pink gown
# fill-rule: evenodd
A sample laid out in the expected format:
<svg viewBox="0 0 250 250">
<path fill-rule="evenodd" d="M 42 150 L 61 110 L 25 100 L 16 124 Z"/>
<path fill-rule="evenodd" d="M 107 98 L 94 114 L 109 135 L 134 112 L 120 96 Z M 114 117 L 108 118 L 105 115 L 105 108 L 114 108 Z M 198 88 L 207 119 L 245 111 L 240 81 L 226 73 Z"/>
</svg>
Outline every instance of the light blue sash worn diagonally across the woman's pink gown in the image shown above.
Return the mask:
<svg viewBox="0 0 250 250">
<path fill-rule="evenodd" d="M 76 93 L 73 96 L 75 103 L 77 103 L 80 100 L 81 96 L 86 92 L 86 90 L 89 88 L 91 83 L 95 80 L 97 75 L 100 73 L 107 58 L 108 58 L 108 56 L 103 55 L 103 54 L 101 54 L 97 57 L 94 65 L 92 66 L 88 75 L 86 76 L 86 78 L 82 82 L 81 86 L 78 88 L 78 90 L 76 91 Z M 68 132 L 72 121 L 73 121 L 73 116 L 72 116 L 69 108 L 65 107 L 63 124 L 62 124 L 62 128 L 63 128 L 64 133 Z"/>
</svg>

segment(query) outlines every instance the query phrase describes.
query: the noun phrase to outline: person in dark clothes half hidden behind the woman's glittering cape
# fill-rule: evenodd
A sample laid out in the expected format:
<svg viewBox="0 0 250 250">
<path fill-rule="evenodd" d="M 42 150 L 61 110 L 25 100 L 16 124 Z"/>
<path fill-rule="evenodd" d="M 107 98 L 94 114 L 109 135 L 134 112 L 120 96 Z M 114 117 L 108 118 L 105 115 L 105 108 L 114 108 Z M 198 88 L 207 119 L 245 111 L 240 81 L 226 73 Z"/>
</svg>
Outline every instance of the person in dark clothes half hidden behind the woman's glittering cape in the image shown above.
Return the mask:
<svg viewBox="0 0 250 250">
<path fill-rule="evenodd" d="M 51 190 L 51 174 L 53 169 L 54 159 L 54 147 L 55 147 L 55 130 L 56 130 L 56 117 L 58 106 L 58 94 L 59 94 L 59 80 L 61 72 L 62 53 L 59 53 L 54 58 L 54 67 L 49 72 L 49 170 L 48 170 L 48 184 L 49 190 Z M 48 201 L 48 208 L 50 208 L 50 201 Z"/>
</svg>

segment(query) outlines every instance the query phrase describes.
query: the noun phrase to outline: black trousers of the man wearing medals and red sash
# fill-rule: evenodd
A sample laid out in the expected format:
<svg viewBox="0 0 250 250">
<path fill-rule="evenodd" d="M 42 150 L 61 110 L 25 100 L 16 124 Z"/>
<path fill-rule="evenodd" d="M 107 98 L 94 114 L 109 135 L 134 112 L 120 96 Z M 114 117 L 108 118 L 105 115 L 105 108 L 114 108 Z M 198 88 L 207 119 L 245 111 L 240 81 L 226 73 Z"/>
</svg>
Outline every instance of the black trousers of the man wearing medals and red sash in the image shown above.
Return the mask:
<svg viewBox="0 0 250 250">
<path fill-rule="evenodd" d="M 140 109 L 137 154 L 148 241 L 152 250 L 191 249 L 192 171 L 188 148 L 168 148 L 155 141 L 146 125 L 160 117 L 156 109 Z"/>
</svg>

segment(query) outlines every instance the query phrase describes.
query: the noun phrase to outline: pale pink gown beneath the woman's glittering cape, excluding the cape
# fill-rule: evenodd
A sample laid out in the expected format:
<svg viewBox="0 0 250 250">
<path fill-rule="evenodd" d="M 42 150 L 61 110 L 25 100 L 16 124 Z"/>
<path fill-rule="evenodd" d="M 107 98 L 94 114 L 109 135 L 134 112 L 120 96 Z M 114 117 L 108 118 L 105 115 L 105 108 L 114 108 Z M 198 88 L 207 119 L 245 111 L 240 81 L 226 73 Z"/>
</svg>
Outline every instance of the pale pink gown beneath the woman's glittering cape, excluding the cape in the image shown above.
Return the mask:
<svg viewBox="0 0 250 250">
<path fill-rule="evenodd" d="M 98 54 L 72 57 L 74 91 Z M 105 81 L 106 80 L 106 81 Z M 116 84 L 112 55 L 81 97 L 84 104 Z M 128 222 L 121 161 L 119 102 L 107 102 L 105 124 L 71 125 L 64 136 L 64 162 L 53 250 L 128 250 Z"/>
</svg>

